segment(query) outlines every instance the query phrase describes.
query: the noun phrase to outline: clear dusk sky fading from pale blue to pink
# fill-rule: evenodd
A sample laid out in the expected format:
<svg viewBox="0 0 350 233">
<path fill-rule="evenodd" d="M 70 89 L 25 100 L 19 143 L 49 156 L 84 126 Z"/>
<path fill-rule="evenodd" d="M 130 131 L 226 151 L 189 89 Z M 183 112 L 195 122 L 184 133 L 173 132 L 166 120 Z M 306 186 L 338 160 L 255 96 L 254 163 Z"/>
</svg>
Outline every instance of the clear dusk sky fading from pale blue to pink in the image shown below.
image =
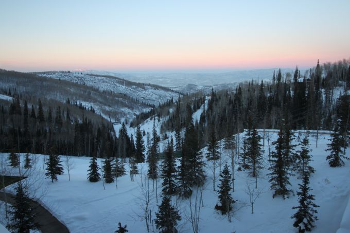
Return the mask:
<svg viewBox="0 0 350 233">
<path fill-rule="evenodd" d="M 349 41 L 349 0 L 0 0 L 0 68 L 19 71 L 307 68 Z"/>
</svg>

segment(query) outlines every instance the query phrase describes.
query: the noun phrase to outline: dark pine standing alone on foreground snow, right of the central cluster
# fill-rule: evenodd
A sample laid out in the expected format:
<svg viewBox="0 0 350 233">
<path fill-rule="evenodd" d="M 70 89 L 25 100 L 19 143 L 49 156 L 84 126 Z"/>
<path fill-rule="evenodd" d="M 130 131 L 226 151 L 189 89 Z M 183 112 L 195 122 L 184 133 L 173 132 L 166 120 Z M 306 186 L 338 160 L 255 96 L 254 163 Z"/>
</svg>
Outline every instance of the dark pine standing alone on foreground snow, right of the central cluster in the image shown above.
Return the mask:
<svg viewBox="0 0 350 233">
<path fill-rule="evenodd" d="M 232 204 L 234 203 L 231 196 L 232 177 L 228 164 L 224 165 L 220 177 L 220 184 L 218 185 L 219 190 L 217 191 L 219 193 L 220 204 L 216 204 L 215 209 L 219 210 L 221 214 L 226 214 L 232 210 Z"/>
</svg>

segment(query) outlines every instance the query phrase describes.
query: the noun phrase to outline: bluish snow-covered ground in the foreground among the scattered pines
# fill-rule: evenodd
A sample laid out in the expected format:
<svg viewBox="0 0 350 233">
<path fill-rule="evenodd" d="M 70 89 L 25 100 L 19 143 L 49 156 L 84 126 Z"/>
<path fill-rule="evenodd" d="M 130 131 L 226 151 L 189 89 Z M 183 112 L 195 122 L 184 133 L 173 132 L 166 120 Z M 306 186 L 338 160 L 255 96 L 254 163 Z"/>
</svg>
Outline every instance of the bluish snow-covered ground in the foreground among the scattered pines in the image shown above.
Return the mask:
<svg viewBox="0 0 350 233">
<path fill-rule="evenodd" d="M 153 123 L 153 122 L 152 122 Z M 148 123 L 151 125 L 151 122 Z M 146 127 L 148 124 L 145 124 Z M 242 136 L 242 135 L 241 135 Z M 276 133 L 269 133 L 271 140 L 276 139 Z M 297 135 L 295 135 L 297 136 Z M 347 162 L 344 167 L 330 168 L 326 161 L 328 152 L 325 152 L 329 135 L 321 135 L 316 148 L 316 139 L 310 137 L 310 148 L 313 161 L 311 165 L 316 172 L 310 178 L 310 187 L 313 189 L 318 208 L 319 220 L 314 232 L 336 232 L 338 228 L 343 227 L 343 231 L 348 232 L 350 183 L 350 163 Z M 295 142 L 296 143 L 296 142 Z M 298 148 L 296 148 L 298 149 Z M 347 150 L 349 151 L 349 150 Z M 205 149 L 203 149 L 203 153 Z M 347 152 L 347 156 L 350 153 Z M 3 153 L 0 156 L 7 156 Z M 22 155 L 23 156 L 23 155 Z M 75 168 L 71 171 L 71 181 L 68 181 L 68 174 L 65 172 L 58 177 L 58 182 L 51 183 L 44 179 L 43 159 L 44 155 L 36 155 L 39 160 L 37 169 L 32 172 L 41 182 L 43 190 L 37 193 L 46 193 L 41 202 L 47 206 L 51 212 L 62 220 L 71 232 L 113 232 L 117 228 L 117 223 L 127 224 L 130 232 L 147 232 L 144 221 L 137 217 L 142 214 L 142 209 L 138 201 L 141 196 L 141 175 L 136 175 L 135 181 L 131 182 L 127 174 L 118 178 L 117 187 L 113 184 L 104 184 L 102 182 L 90 183 L 87 178 L 89 167 L 88 157 L 72 157 Z M 268 157 L 268 142 L 265 141 L 265 158 Z M 64 160 L 64 156 L 62 156 Z M 222 150 L 222 163 L 230 162 L 229 151 Z M 101 159 L 99 159 L 101 165 Z M 199 232 L 296 232 L 292 226 L 293 220 L 290 218 L 294 213 L 291 208 L 298 205 L 298 196 L 291 195 L 289 199 L 272 198 L 272 191 L 269 190 L 267 168 L 268 162 L 265 160 L 264 169 L 260 172 L 258 178 L 258 189 L 263 193 L 254 204 L 254 214 L 251 214 L 251 208 L 247 206 L 249 196 L 246 193 L 247 185 L 253 187 L 254 180 L 249 176 L 248 171 L 235 171 L 235 192 L 234 217 L 230 223 L 225 216 L 221 216 L 215 211 L 214 206 L 218 201 L 217 192 L 213 191 L 212 172 L 208 164 L 206 171 L 208 175 L 207 183 L 203 191 L 204 207 L 200 212 Z M 128 165 L 126 164 L 127 171 Z M 236 167 L 237 168 L 237 167 Z M 141 164 L 139 165 L 141 170 Z M 146 164 L 143 164 L 143 175 L 146 173 Z M 12 174 L 15 171 L 12 171 Z M 291 178 L 292 189 L 296 193 L 300 180 L 296 176 Z M 158 185 L 161 183 L 159 180 Z M 218 184 L 218 181 L 217 181 Z M 152 181 L 150 181 L 152 186 Z M 145 186 L 145 184 L 144 184 Z M 48 188 L 47 188 L 48 187 Z M 10 188 L 8 188 L 10 189 Z M 47 189 L 47 190 L 46 190 Z M 155 191 L 152 193 L 155 195 Z M 160 188 L 158 188 L 160 195 Z M 158 198 L 160 204 L 160 198 Z M 173 200 L 175 201 L 175 200 Z M 179 223 L 180 232 L 191 232 L 191 224 L 188 221 L 189 203 L 188 200 L 179 200 L 179 209 L 182 220 Z M 345 212 L 346 208 L 346 213 Z M 151 203 L 152 218 L 157 211 L 155 200 Z M 347 215 L 346 215 L 347 214 Z M 346 228 L 347 227 L 347 228 Z M 151 227 L 152 229 L 152 227 Z M 154 226 L 155 230 L 155 226 Z"/>
</svg>

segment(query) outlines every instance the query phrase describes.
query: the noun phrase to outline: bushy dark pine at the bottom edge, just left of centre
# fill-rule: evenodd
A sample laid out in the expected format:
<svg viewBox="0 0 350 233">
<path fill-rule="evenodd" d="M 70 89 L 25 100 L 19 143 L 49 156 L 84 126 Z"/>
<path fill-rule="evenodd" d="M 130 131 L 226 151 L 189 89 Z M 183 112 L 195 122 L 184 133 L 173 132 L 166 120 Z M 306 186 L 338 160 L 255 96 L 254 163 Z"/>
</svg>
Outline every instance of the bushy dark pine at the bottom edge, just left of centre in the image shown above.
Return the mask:
<svg viewBox="0 0 350 233">
<path fill-rule="evenodd" d="M 170 198 L 163 195 L 162 203 L 158 206 L 158 212 L 155 213 L 155 226 L 162 233 L 176 233 L 176 226 L 181 220 L 178 210 L 170 203 Z"/>
</svg>

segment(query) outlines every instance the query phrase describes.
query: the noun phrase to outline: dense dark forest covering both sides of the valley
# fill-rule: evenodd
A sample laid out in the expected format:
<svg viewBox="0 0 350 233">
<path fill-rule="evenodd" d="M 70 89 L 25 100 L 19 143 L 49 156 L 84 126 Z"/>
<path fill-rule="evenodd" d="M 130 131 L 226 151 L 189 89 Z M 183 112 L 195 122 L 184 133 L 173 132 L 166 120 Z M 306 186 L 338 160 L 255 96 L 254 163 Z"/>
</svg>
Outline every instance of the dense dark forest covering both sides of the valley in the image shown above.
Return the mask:
<svg viewBox="0 0 350 233">
<path fill-rule="evenodd" d="M 4 72 L 4 77 L 23 74 Z M 45 81 L 45 78 L 35 78 Z M 318 62 L 304 74 L 298 67 L 294 74 L 282 74 L 279 69 L 270 81 L 250 80 L 240 83 L 236 89 L 213 89 L 208 94 L 184 95 L 177 101 L 170 99 L 137 115 L 130 126 L 136 127 L 149 117 L 158 117 L 158 120 L 165 117 L 161 132 L 176 132 L 174 143 L 178 151 L 190 116 L 203 106 L 200 120 L 193 122 L 200 147 L 206 146 L 211 129 L 217 139 L 227 138 L 247 129 L 248 119 L 260 129 L 280 129 L 282 122 L 287 122 L 291 129 L 332 130 L 337 100 L 342 96 L 347 104 L 349 83 L 347 60 L 323 65 Z M 127 132 L 116 132 L 116 136 L 112 124 L 99 116 L 92 106 L 86 107 L 68 97 L 65 102 L 43 96 L 40 99 L 16 88 L 3 88 L 2 93 L 12 98 L 10 102 L 0 100 L 2 152 L 47 154 L 53 145 L 61 154 L 98 157 L 129 157 L 134 151 L 133 138 Z M 125 127 L 123 129 L 126 131 Z"/>
</svg>

